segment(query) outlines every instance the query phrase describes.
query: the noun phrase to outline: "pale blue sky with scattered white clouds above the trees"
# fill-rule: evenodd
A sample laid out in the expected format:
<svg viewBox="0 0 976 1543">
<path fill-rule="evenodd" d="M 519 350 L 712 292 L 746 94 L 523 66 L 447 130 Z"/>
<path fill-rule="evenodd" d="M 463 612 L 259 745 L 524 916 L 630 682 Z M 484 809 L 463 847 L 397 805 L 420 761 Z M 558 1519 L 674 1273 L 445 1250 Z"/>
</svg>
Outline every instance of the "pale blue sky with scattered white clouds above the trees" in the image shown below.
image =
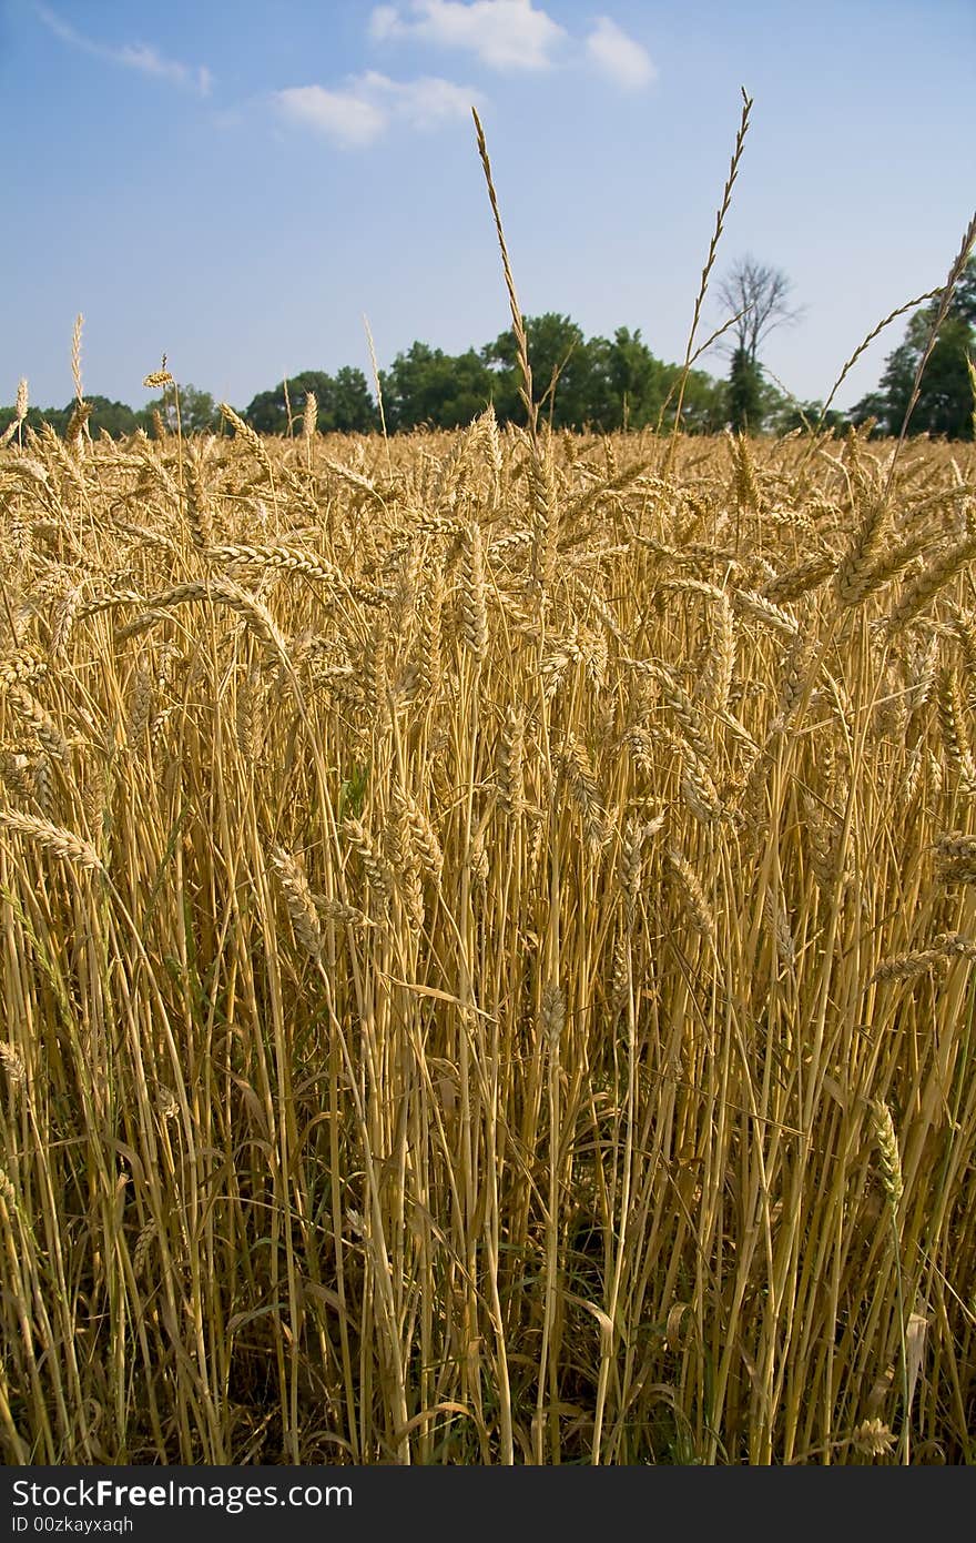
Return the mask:
<svg viewBox="0 0 976 1543">
<path fill-rule="evenodd" d="M 802 319 L 768 366 L 823 397 L 942 282 L 976 205 L 973 0 L 0 0 L 0 403 L 250 398 L 507 326 L 470 103 L 523 310 L 683 356 L 740 111 L 715 278 L 752 253 Z M 714 296 L 705 327 L 722 319 Z M 900 324 L 848 378 L 871 389 Z M 725 372 L 720 356 L 703 361 Z"/>
</svg>

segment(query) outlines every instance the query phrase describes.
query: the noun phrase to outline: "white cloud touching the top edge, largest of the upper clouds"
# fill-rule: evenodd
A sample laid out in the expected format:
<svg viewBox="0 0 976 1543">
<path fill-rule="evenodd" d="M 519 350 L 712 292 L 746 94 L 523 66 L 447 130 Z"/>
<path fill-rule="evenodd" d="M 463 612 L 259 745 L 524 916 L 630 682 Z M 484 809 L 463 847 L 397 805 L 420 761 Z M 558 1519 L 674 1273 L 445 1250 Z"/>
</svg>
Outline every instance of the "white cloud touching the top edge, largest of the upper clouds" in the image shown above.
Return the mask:
<svg viewBox="0 0 976 1543">
<path fill-rule="evenodd" d="M 406 37 L 464 48 L 492 69 L 547 69 L 566 31 L 532 0 L 409 0 L 376 6 L 370 32 L 379 42 Z"/>
</svg>

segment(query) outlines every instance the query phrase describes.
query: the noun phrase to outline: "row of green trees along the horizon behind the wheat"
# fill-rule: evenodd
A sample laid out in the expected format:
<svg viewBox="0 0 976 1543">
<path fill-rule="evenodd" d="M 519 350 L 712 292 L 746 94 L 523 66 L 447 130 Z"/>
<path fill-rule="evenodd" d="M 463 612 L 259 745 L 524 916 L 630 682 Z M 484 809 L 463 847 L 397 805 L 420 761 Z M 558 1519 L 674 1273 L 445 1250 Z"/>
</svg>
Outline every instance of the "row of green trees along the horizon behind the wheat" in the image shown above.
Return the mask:
<svg viewBox="0 0 976 1543">
<path fill-rule="evenodd" d="M 526 318 L 529 363 L 540 414 L 557 429 L 671 427 L 682 395 L 682 427 L 692 434 L 715 434 L 723 427 L 783 434 L 820 420 L 822 404 L 799 403 L 786 395 L 763 369 L 759 350 L 772 327 L 796 319 L 786 304 L 789 282 L 776 268 L 746 258 L 720 285 L 732 322 L 725 352 L 726 378 L 691 369 L 680 393 L 683 369 L 658 360 L 640 329 L 618 327 L 612 338 L 586 338 L 570 316 L 546 312 Z M 917 366 L 925 352 L 939 301 L 919 309 L 905 338 L 888 355 L 879 387 L 848 414 L 830 412 L 826 427 L 874 420 L 876 434 L 899 434 L 908 410 Z M 947 438 L 973 438 L 973 364 L 976 356 L 976 261 L 956 285 L 948 313 L 927 361 L 910 432 Z M 481 349 L 446 353 L 416 341 L 398 353 L 389 370 L 379 372 L 379 397 L 359 369 L 344 366 L 335 375 L 305 370 L 259 392 L 241 417 L 259 434 L 301 432 L 305 398 L 315 393 L 316 427 L 322 434 L 370 434 L 385 424 L 399 434 L 418 427 L 455 429 L 470 423 L 489 403 L 501 423 L 524 423 L 520 395 L 521 373 L 512 332 L 500 333 Z M 179 387 L 133 409 L 105 397 L 88 397 L 89 426 L 123 437 L 143 429 L 150 435 L 176 429 L 217 430 L 220 412 L 210 392 Z M 25 423 L 39 429 L 49 423 L 65 434 L 74 401 L 65 407 L 31 407 Z M 14 421 L 14 407 L 0 407 L 0 435 Z"/>
</svg>

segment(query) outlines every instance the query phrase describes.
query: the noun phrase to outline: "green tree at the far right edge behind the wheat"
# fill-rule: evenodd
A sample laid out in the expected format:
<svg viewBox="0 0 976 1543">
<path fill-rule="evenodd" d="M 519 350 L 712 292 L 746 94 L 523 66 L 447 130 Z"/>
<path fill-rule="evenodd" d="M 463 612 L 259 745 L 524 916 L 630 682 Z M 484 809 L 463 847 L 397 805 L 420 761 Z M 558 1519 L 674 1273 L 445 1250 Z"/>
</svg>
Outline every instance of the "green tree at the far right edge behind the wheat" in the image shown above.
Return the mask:
<svg viewBox="0 0 976 1543">
<path fill-rule="evenodd" d="M 876 392 L 853 407 L 851 420 L 877 420 L 879 434 L 900 434 L 914 376 L 939 313 L 933 299 L 917 310 L 905 339 L 888 355 Z M 970 259 L 959 279 L 934 347 L 925 364 L 919 400 L 908 423 L 910 434 L 942 434 L 948 440 L 973 438 L 973 387 L 967 356 L 976 353 L 976 259 Z"/>
</svg>

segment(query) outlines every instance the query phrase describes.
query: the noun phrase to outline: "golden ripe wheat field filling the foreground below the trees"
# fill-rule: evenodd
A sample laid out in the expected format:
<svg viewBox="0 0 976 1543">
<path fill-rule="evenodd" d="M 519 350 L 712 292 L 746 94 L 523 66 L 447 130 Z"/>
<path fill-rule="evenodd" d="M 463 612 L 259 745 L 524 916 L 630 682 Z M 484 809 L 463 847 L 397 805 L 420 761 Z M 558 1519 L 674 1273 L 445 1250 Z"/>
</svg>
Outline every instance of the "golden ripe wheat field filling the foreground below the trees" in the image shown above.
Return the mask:
<svg viewBox="0 0 976 1543">
<path fill-rule="evenodd" d="M 0 451 L 6 1463 L 967 1463 L 976 452 Z"/>
</svg>

